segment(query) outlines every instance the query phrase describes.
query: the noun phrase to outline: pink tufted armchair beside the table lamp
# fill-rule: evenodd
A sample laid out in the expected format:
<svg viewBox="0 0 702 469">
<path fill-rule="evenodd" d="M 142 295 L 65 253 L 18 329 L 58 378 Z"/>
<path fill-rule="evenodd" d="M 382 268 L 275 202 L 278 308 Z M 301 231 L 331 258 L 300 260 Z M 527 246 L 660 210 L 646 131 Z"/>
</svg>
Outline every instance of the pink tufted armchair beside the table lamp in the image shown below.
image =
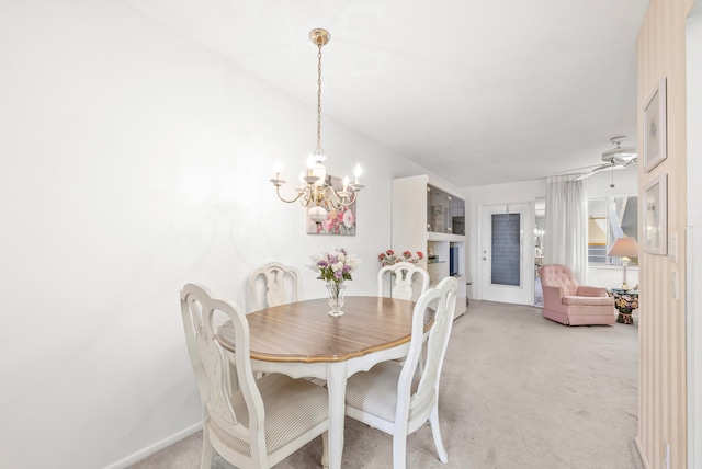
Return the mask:
<svg viewBox="0 0 702 469">
<path fill-rule="evenodd" d="M 566 325 L 613 324 L 614 298 L 601 287 L 578 285 L 570 268 L 547 264 L 539 268 L 545 318 Z"/>
</svg>

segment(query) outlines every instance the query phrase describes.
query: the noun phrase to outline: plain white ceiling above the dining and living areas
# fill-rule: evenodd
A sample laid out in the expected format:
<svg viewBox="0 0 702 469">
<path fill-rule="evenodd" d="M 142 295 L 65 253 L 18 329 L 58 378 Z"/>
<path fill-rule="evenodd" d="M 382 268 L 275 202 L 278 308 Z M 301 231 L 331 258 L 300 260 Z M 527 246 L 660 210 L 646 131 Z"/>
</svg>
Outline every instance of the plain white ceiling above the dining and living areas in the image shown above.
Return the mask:
<svg viewBox="0 0 702 469">
<path fill-rule="evenodd" d="M 136 8 L 458 187 L 598 164 L 636 146 L 648 0 L 131 0 Z M 316 117 L 310 115 L 310 149 Z M 352 159 L 353 156 L 348 156 Z"/>
</svg>

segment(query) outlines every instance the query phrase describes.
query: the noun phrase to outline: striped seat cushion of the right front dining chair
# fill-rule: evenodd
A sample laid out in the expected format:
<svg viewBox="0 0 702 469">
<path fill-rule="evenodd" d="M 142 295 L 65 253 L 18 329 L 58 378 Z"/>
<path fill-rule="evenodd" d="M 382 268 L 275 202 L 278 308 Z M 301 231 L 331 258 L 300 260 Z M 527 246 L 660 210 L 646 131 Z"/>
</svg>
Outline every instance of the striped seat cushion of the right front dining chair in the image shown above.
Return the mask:
<svg viewBox="0 0 702 469">
<path fill-rule="evenodd" d="M 395 422 L 397 384 L 403 366 L 397 362 L 381 362 L 365 373 L 356 373 L 347 384 L 347 405 L 388 422 Z M 412 382 L 412 393 L 419 380 Z"/>
</svg>

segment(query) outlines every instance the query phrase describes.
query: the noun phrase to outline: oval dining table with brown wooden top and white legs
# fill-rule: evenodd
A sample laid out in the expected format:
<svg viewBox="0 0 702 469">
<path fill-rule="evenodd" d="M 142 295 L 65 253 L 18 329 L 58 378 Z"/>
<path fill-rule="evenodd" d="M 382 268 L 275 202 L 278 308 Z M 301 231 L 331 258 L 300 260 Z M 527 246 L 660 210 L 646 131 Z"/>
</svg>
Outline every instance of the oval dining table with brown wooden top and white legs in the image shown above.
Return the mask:
<svg viewBox="0 0 702 469">
<path fill-rule="evenodd" d="M 329 467 L 341 468 L 347 379 L 409 350 L 414 301 L 348 296 L 342 316 L 332 317 L 328 299 L 309 299 L 265 308 L 247 314 L 251 366 L 258 373 L 281 373 L 293 378 L 318 378 L 329 392 Z M 424 318 L 424 332 L 433 323 Z M 231 323 L 217 340 L 235 351 Z"/>
</svg>

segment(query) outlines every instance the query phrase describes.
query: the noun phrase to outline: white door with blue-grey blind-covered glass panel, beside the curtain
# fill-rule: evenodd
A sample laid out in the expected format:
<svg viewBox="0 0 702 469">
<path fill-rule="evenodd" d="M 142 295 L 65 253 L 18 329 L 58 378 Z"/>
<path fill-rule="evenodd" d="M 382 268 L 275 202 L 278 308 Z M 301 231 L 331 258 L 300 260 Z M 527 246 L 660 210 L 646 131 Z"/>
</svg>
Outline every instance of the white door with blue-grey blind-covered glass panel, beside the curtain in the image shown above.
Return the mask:
<svg viewBox="0 0 702 469">
<path fill-rule="evenodd" d="M 483 205 L 480 226 L 482 299 L 533 305 L 533 205 Z"/>
</svg>

